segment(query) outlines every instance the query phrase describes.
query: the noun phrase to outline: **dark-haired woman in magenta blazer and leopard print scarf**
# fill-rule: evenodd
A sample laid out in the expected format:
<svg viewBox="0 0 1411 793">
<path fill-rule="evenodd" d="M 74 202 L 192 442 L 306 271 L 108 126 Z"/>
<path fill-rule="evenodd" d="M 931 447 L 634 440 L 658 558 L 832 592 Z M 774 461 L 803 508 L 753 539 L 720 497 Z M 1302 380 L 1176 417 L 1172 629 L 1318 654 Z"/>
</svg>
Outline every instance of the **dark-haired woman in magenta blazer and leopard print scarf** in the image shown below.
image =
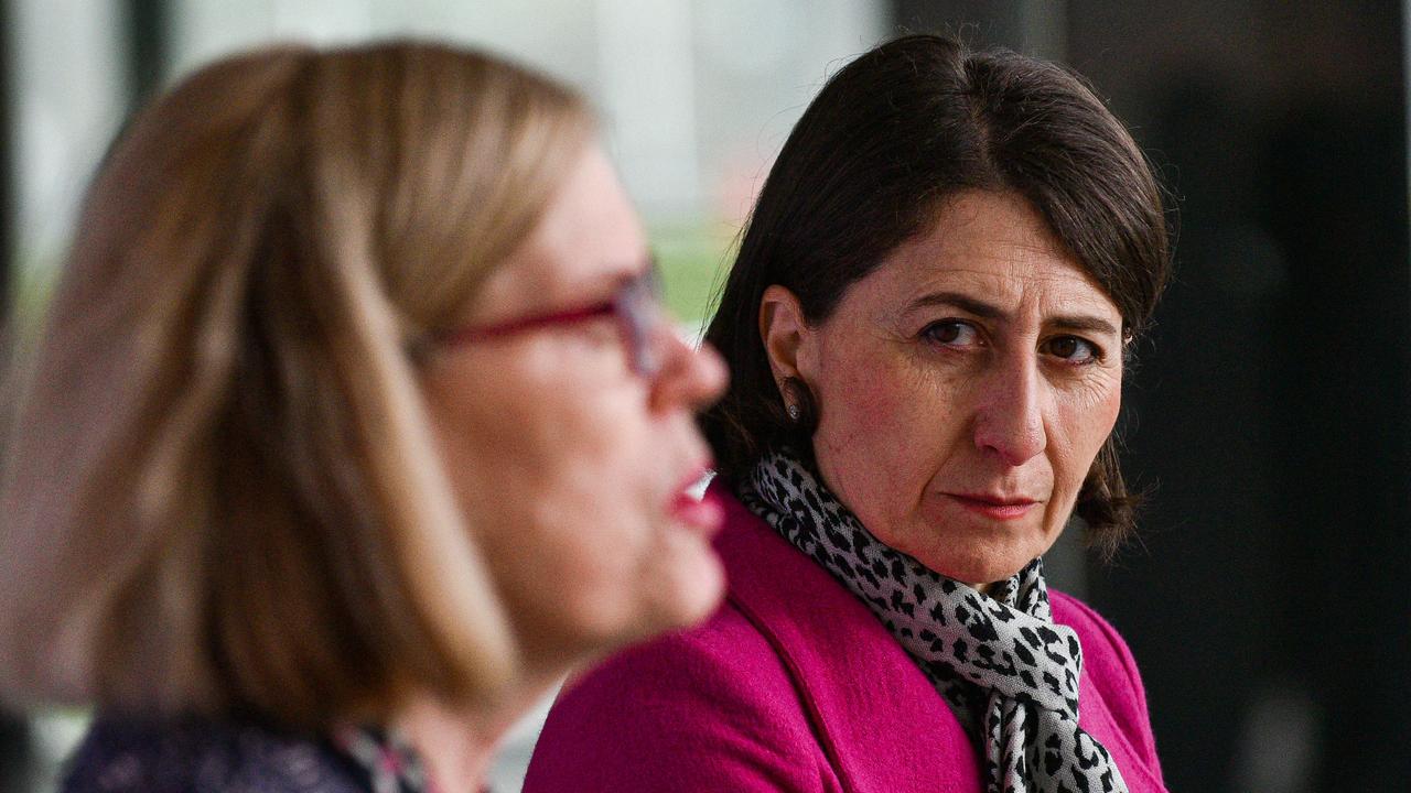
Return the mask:
<svg viewBox="0 0 1411 793">
<path fill-rule="evenodd" d="M 706 336 L 727 604 L 570 686 L 526 790 L 1164 790 L 1129 650 L 1040 557 L 1132 528 L 1113 428 L 1167 271 L 1070 72 L 930 35 L 838 72 Z"/>
</svg>

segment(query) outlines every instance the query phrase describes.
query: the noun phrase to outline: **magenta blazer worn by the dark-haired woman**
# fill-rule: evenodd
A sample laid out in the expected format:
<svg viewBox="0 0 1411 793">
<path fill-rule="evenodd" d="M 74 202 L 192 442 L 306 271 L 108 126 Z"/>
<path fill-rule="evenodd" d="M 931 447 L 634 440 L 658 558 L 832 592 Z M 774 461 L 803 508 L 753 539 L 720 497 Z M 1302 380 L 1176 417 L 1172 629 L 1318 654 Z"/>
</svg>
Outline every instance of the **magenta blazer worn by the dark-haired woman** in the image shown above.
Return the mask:
<svg viewBox="0 0 1411 793">
<path fill-rule="evenodd" d="M 729 594 L 700 628 L 612 658 L 559 696 L 525 793 L 981 793 L 981 758 L 886 628 L 715 483 Z M 1082 642 L 1079 724 L 1132 793 L 1164 793 L 1126 643 L 1050 591 Z"/>
</svg>

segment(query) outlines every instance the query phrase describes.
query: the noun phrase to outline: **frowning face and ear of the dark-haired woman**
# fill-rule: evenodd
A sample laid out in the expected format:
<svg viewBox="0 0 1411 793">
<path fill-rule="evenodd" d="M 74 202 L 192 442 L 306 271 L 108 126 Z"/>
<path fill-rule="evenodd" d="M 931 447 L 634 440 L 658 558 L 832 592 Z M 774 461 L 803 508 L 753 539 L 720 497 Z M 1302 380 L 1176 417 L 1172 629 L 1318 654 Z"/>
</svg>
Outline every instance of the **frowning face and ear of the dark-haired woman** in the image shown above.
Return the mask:
<svg viewBox="0 0 1411 793">
<path fill-rule="evenodd" d="M 1116 422 L 1123 336 L 1026 200 L 951 199 L 817 326 L 780 286 L 763 308 L 820 474 L 878 539 L 981 588 L 1048 550 Z"/>
</svg>

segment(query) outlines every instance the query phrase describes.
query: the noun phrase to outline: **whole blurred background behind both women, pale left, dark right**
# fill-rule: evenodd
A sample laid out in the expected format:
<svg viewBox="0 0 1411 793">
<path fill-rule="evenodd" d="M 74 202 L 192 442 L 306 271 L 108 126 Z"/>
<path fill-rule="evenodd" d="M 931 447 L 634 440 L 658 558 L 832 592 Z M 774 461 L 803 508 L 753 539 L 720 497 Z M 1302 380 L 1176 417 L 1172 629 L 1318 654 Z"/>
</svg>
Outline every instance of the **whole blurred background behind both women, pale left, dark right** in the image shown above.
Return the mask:
<svg viewBox="0 0 1411 793">
<path fill-rule="evenodd" d="M 42 305 L 134 106 L 271 40 L 436 37 L 579 86 L 691 329 L 848 58 L 944 30 L 1061 61 L 1158 167 L 1180 236 L 1122 422 L 1143 539 L 1108 566 L 1064 542 L 1057 586 L 1130 642 L 1173 790 L 1405 792 L 1405 20 L 1391 0 L 0 0 L 0 305 L 21 332 Z M 82 724 L 0 714 L 0 792 L 49 790 Z"/>
</svg>

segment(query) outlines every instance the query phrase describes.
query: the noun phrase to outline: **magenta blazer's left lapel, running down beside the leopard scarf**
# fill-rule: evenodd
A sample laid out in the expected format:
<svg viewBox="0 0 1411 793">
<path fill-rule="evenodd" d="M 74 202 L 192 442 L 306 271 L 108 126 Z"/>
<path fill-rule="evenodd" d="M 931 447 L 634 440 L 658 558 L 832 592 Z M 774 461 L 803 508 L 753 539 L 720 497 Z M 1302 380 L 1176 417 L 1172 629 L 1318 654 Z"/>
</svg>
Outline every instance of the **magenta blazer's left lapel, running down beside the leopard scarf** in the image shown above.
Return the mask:
<svg viewBox="0 0 1411 793">
<path fill-rule="evenodd" d="M 793 676 L 845 790 L 979 790 L 975 746 L 886 628 L 825 570 L 749 512 L 724 483 L 717 549 L 729 600 Z"/>
</svg>

